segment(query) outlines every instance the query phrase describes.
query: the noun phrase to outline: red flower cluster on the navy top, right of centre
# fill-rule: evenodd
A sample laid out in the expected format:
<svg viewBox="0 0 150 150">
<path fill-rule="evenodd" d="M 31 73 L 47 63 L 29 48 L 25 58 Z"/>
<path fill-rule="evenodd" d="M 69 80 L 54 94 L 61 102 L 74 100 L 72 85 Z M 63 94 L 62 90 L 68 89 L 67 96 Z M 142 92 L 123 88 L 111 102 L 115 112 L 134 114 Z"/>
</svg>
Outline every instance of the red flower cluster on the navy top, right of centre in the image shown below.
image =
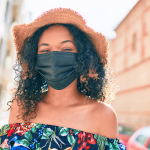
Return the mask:
<svg viewBox="0 0 150 150">
<path fill-rule="evenodd" d="M 96 144 L 96 140 L 92 134 L 86 132 L 80 132 L 78 134 L 78 144 L 80 144 L 78 150 L 82 150 L 83 148 L 88 150 L 91 144 Z M 90 144 L 90 145 L 89 145 Z"/>
</svg>

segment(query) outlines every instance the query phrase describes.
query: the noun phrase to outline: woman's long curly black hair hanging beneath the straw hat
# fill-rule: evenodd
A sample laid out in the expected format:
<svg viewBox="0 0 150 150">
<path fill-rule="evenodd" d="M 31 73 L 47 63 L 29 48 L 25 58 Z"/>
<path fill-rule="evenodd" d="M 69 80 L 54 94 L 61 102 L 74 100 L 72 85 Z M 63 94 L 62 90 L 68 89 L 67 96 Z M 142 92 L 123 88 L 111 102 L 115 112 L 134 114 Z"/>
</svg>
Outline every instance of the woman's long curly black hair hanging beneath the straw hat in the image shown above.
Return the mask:
<svg viewBox="0 0 150 150">
<path fill-rule="evenodd" d="M 21 51 L 17 54 L 17 63 L 14 66 L 17 88 L 15 88 L 15 96 L 12 101 L 17 100 L 21 110 L 19 112 L 24 121 L 30 121 L 31 118 L 36 117 L 36 108 L 42 100 L 42 93 L 48 90 L 47 82 L 35 71 L 35 64 L 38 41 L 42 33 L 53 25 L 56 24 L 45 25 L 37 29 L 31 37 L 24 41 Z M 57 25 L 66 27 L 74 37 L 79 62 L 78 90 L 91 99 L 104 101 L 105 91 L 102 88 L 106 82 L 106 72 L 92 39 L 75 25 Z"/>
</svg>

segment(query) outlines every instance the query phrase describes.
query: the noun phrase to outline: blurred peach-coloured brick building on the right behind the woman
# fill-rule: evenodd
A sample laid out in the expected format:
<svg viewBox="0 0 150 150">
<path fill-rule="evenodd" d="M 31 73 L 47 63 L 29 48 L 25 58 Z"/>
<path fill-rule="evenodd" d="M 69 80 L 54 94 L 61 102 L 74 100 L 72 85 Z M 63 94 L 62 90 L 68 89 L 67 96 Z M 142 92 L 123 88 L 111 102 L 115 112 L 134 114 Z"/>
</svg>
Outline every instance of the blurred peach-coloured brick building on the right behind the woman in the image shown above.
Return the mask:
<svg viewBox="0 0 150 150">
<path fill-rule="evenodd" d="M 139 0 L 115 31 L 110 60 L 120 91 L 112 106 L 118 121 L 150 125 L 150 0 Z"/>
</svg>

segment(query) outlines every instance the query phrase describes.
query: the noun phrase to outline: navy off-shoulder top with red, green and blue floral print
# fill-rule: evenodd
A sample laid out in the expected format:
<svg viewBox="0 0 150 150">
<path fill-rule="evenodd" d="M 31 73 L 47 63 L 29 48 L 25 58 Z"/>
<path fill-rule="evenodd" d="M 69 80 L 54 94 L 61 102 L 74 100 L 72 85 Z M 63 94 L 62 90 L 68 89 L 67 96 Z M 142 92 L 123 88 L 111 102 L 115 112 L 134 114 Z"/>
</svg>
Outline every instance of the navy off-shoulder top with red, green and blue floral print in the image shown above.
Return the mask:
<svg viewBox="0 0 150 150">
<path fill-rule="evenodd" d="M 5 124 L 0 150 L 126 150 L 118 138 L 39 123 Z"/>
</svg>

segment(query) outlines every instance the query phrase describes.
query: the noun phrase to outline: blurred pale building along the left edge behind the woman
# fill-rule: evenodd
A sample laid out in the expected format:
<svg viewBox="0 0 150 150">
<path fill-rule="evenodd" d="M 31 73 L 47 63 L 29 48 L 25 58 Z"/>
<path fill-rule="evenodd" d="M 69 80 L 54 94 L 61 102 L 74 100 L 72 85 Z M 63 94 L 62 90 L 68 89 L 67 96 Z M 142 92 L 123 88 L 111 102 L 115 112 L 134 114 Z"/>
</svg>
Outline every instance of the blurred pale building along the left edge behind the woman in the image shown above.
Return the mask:
<svg viewBox="0 0 150 150">
<path fill-rule="evenodd" d="M 29 23 L 31 14 L 25 8 L 24 0 L 0 0 L 0 127 L 8 123 L 9 111 L 6 103 L 11 99 L 6 92 L 14 85 L 13 65 L 16 59 L 12 27 Z"/>
</svg>

